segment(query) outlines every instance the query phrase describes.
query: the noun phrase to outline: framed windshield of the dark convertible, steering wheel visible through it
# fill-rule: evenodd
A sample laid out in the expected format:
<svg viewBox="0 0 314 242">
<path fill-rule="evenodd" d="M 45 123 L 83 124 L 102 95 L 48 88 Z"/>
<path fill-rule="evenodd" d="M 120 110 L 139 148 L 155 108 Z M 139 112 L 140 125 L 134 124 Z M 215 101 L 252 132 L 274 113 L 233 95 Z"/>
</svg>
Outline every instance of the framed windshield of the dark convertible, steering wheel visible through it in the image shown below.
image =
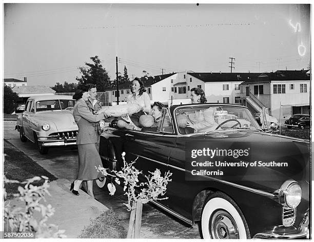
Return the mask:
<svg viewBox="0 0 314 242">
<path fill-rule="evenodd" d="M 261 130 L 249 109 L 228 105 L 194 105 L 176 109 L 176 122 L 181 134 L 222 129 Z"/>
</svg>

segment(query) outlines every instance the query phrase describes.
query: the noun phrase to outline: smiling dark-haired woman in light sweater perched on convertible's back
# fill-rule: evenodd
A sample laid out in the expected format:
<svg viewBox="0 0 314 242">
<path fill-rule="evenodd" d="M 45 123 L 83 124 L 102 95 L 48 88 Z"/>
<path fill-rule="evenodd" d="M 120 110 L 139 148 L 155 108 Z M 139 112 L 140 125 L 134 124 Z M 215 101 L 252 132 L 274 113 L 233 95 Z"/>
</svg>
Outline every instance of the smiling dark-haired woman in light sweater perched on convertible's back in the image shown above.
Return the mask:
<svg viewBox="0 0 314 242">
<path fill-rule="evenodd" d="M 131 85 L 131 93 L 132 94 L 127 97 L 127 103 L 136 103 L 139 104 L 140 107 L 135 111 L 134 114 L 130 116 L 130 119 L 132 120 L 134 125 L 140 127 L 140 117 L 145 113 L 150 112 L 150 98 L 144 88 L 144 82 L 140 78 L 134 78 Z M 132 127 L 129 127 L 129 125 L 124 120 L 117 121 L 117 126 L 121 128 L 126 127 L 132 129 Z"/>
</svg>

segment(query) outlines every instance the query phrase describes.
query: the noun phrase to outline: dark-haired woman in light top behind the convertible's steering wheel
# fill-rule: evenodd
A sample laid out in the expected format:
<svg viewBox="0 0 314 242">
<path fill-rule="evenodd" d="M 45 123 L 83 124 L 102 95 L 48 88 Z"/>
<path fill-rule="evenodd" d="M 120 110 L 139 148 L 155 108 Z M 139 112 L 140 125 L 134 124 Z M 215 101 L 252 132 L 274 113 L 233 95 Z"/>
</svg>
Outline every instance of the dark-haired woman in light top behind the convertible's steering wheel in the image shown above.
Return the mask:
<svg viewBox="0 0 314 242">
<path fill-rule="evenodd" d="M 192 104 L 206 103 L 207 99 L 203 89 L 193 87 L 191 89 L 191 101 Z M 190 112 L 188 117 L 187 127 L 193 128 L 194 133 L 213 130 L 218 126 L 218 124 L 215 123 L 214 110 L 212 108 Z"/>
</svg>

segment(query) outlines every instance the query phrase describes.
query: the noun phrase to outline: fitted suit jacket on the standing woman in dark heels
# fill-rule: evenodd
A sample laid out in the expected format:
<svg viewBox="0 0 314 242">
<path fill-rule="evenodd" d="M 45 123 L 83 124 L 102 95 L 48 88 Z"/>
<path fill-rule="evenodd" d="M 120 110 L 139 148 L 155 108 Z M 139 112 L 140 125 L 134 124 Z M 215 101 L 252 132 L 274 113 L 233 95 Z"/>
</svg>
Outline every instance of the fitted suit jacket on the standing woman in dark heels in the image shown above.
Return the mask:
<svg viewBox="0 0 314 242">
<path fill-rule="evenodd" d="M 73 109 L 74 120 L 78 126 L 76 144 L 97 143 L 97 126 L 96 123 L 105 119 L 104 114 L 93 114 L 87 103 L 78 99 Z"/>
</svg>

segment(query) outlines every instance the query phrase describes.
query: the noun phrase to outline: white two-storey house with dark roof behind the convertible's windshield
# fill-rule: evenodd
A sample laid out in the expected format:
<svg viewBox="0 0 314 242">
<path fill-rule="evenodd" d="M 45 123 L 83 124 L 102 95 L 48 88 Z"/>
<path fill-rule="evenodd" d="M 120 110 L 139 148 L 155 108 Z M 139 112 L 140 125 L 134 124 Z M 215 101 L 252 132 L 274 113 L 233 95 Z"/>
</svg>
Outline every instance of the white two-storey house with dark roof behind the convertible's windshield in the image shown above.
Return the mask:
<svg viewBox="0 0 314 242">
<path fill-rule="evenodd" d="M 260 73 L 178 73 L 171 85 L 171 96 L 182 103 L 190 102 L 190 90 L 200 87 L 204 90 L 207 102 L 241 104 L 239 85 L 247 78 L 257 77 Z M 184 100 L 185 99 L 185 100 Z"/>
</svg>

